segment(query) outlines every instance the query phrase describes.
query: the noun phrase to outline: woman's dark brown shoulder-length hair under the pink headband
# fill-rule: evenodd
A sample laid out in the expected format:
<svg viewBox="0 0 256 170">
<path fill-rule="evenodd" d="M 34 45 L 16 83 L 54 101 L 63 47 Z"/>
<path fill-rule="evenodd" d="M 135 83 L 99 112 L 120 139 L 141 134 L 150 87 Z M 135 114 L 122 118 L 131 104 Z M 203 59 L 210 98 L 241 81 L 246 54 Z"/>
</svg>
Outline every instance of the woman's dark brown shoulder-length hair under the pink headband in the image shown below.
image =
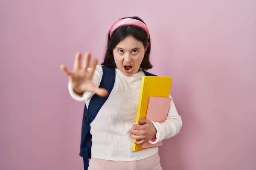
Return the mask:
<svg viewBox="0 0 256 170">
<path fill-rule="evenodd" d="M 144 21 L 142 19 L 140 19 L 139 17 L 124 17 L 124 18 L 133 18 L 135 20 L 140 20 L 141 22 L 144 23 Z M 123 19 L 123 18 L 121 18 Z M 140 64 L 140 68 L 142 70 L 148 70 L 150 68 L 153 67 L 153 65 L 151 64 L 151 62 L 149 61 L 149 55 L 151 52 L 151 40 L 150 37 L 148 39 L 148 36 L 146 34 L 146 32 L 141 29 L 138 28 L 136 26 L 122 26 L 117 28 L 115 31 L 113 31 L 112 36 L 110 37 L 109 32 L 108 32 L 108 42 L 106 45 L 106 51 L 105 51 L 105 57 L 104 57 L 104 61 L 102 62 L 102 65 L 108 66 L 108 67 L 112 67 L 112 68 L 116 68 L 116 63 L 114 61 L 114 56 L 113 56 L 113 49 L 116 47 L 116 45 L 124 40 L 126 37 L 128 36 L 132 36 L 134 37 L 136 40 L 140 41 L 143 43 L 144 48 L 147 47 L 147 42 L 148 42 L 148 47 L 147 50 L 144 54 L 144 58 Z"/>
</svg>

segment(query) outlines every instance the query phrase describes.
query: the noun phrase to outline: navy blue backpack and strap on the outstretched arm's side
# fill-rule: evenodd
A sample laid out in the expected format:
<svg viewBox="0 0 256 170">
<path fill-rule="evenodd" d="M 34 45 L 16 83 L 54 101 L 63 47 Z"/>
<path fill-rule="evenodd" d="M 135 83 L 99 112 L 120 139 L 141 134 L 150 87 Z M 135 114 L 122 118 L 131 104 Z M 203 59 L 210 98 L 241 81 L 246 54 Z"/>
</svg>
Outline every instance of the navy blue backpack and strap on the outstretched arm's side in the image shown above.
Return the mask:
<svg viewBox="0 0 256 170">
<path fill-rule="evenodd" d="M 116 79 L 115 68 L 110 68 L 107 66 L 102 66 L 102 80 L 100 82 L 99 88 L 105 88 L 108 90 L 108 96 L 111 93 Z M 79 155 L 83 157 L 84 160 L 84 170 L 87 170 L 89 166 L 88 159 L 91 158 L 91 146 L 92 146 L 92 135 L 90 134 L 90 123 L 95 119 L 99 110 L 102 108 L 108 96 L 101 97 L 94 94 L 90 100 L 90 104 L 87 108 L 84 105 L 84 114 L 81 130 L 81 144 Z"/>
</svg>

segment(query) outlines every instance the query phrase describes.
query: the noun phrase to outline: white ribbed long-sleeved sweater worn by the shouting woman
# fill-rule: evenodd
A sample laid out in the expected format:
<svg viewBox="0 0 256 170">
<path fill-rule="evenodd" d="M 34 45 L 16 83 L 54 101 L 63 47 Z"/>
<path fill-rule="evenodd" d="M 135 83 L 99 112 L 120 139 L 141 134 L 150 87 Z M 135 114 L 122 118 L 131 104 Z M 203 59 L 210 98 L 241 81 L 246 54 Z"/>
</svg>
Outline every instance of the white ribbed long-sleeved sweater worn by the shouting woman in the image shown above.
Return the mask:
<svg viewBox="0 0 256 170">
<path fill-rule="evenodd" d="M 135 161 L 147 158 L 157 153 L 158 147 L 145 150 L 132 151 L 133 139 L 130 136 L 132 125 L 136 122 L 137 108 L 140 95 L 141 78 L 143 71 L 139 71 L 131 77 L 127 77 L 116 69 L 116 80 L 107 101 L 100 109 L 96 118 L 91 123 L 92 134 L 92 158 L 112 161 Z M 99 86 L 102 79 L 102 67 L 97 65 L 93 76 L 93 82 Z M 92 93 L 84 93 L 78 96 L 71 88 L 68 89 L 73 99 L 90 103 Z M 171 96 L 170 96 L 171 97 Z M 163 139 L 169 139 L 179 133 L 182 126 L 181 117 L 178 115 L 172 100 L 167 120 L 163 123 L 153 122 L 157 129 L 157 143 Z"/>
</svg>

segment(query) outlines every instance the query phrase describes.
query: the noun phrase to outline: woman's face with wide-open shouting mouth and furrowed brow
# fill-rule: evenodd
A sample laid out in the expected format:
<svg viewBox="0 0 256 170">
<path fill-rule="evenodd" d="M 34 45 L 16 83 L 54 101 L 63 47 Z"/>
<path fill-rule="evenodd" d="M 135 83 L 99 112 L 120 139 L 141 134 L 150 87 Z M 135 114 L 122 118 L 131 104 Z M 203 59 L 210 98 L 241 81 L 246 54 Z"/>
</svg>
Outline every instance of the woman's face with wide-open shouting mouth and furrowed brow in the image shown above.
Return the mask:
<svg viewBox="0 0 256 170">
<path fill-rule="evenodd" d="M 113 49 L 116 68 L 125 76 L 132 76 L 140 69 L 146 49 L 142 42 L 128 36 Z"/>
</svg>

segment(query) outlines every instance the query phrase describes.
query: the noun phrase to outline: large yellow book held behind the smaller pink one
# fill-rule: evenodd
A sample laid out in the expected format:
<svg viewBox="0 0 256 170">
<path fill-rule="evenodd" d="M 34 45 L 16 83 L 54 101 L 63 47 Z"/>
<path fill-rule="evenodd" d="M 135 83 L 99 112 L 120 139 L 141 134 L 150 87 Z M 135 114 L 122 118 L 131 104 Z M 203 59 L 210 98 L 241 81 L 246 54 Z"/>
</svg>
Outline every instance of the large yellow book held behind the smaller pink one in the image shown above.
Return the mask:
<svg viewBox="0 0 256 170">
<path fill-rule="evenodd" d="M 137 111 L 136 124 L 139 119 L 146 119 L 146 113 L 148 108 L 149 96 L 156 97 L 169 97 L 172 86 L 172 77 L 160 77 L 160 76 L 143 76 L 140 86 L 140 98 Z M 136 140 L 134 139 L 134 142 Z M 133 151 L 139 151 L 146 148 L 141 148 L 141 144 L 132 145 Z"/>
</svg>

